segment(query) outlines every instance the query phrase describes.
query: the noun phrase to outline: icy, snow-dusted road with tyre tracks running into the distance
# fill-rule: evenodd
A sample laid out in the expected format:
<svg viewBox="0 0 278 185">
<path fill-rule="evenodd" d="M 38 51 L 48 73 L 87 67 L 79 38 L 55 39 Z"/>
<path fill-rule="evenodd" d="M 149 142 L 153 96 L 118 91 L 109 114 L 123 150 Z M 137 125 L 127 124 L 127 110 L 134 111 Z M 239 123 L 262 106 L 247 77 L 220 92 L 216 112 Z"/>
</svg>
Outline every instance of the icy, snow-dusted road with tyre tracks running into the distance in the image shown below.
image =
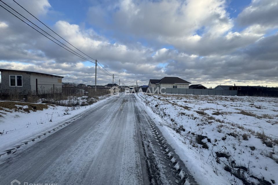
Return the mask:
<svg viewBox="0 0 278 185">
<path fill-rule="evenodd" d="M 10 154 L 0 164 L 0 184 L 14 179 L 21 184 L 183 184 L 178 175 L 183 172 L 173 168 L 180 160 L 176 156 L 171 162 L 175 154 L 167 154 L 169 148 L 163 157 L 137 101 L 134 94 L 121 93 L 21 153 Z"/>
</svg>

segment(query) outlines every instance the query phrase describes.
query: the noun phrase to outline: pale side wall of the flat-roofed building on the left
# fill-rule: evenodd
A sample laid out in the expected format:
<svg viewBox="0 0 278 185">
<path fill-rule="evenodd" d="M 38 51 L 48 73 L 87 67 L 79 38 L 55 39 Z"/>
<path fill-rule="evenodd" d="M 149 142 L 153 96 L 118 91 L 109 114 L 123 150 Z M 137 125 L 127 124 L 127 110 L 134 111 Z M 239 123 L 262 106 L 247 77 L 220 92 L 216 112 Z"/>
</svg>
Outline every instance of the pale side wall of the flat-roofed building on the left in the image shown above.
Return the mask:
<svg viewBox="0 0 278 185">
<path fill-rule="evenodd" d="M 38 94 L 62 92 L 62 78 L 48 75 L 31 74 L 30 83 L 32 93 L 36 93 L 36 79 L 38 79 Z"/>
</svg>

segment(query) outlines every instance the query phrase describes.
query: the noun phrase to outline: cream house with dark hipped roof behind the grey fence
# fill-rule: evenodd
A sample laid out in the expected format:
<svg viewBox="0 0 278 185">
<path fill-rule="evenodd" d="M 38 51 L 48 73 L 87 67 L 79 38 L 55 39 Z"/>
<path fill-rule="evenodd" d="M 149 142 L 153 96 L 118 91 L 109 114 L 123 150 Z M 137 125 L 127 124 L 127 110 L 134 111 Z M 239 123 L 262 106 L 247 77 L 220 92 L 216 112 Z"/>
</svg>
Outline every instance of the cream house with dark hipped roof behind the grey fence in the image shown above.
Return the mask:
<svg viewBox="0 0 278 185">
<path fill-rule="evenodd" d="M 187 82 L 179 77 L 164 77 L 155 82 L 159 88 L 182 88 L 188 89 L 190 82 Z"/>
</svg>

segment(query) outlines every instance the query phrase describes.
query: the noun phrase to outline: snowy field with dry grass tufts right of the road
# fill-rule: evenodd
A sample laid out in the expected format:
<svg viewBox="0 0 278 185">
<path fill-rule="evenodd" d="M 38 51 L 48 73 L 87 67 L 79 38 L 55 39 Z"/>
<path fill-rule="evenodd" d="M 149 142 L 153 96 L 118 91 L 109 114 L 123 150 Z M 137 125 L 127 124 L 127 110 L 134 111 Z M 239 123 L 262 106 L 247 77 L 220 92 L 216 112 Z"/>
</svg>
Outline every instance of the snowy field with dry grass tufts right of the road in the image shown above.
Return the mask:
<svg viewBox="0 0 278 185">
<path fill-rule="evenodd" d="M 138 97 L 200 184 L 278 183 L 277 98 Z"/>
</svg>

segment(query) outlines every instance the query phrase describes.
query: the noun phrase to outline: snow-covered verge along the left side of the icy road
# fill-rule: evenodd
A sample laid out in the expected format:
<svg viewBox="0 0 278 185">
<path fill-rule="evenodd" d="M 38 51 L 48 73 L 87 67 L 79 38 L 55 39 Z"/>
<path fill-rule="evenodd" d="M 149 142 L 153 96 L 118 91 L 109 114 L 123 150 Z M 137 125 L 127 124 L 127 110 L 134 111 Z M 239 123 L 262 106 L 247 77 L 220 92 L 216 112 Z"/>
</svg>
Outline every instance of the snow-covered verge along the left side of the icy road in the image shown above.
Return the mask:
<svg viewBox="0 0 278 185">
<path fill-rule="evenodd" d="M 94 99 L 96 103 L 86 105 L 87 97 L 76 97 L 63 103 L 72 104 L 72 100 L 76 106 L 0 101 L 0 152 L 106 101 Z"/>
</svg>

